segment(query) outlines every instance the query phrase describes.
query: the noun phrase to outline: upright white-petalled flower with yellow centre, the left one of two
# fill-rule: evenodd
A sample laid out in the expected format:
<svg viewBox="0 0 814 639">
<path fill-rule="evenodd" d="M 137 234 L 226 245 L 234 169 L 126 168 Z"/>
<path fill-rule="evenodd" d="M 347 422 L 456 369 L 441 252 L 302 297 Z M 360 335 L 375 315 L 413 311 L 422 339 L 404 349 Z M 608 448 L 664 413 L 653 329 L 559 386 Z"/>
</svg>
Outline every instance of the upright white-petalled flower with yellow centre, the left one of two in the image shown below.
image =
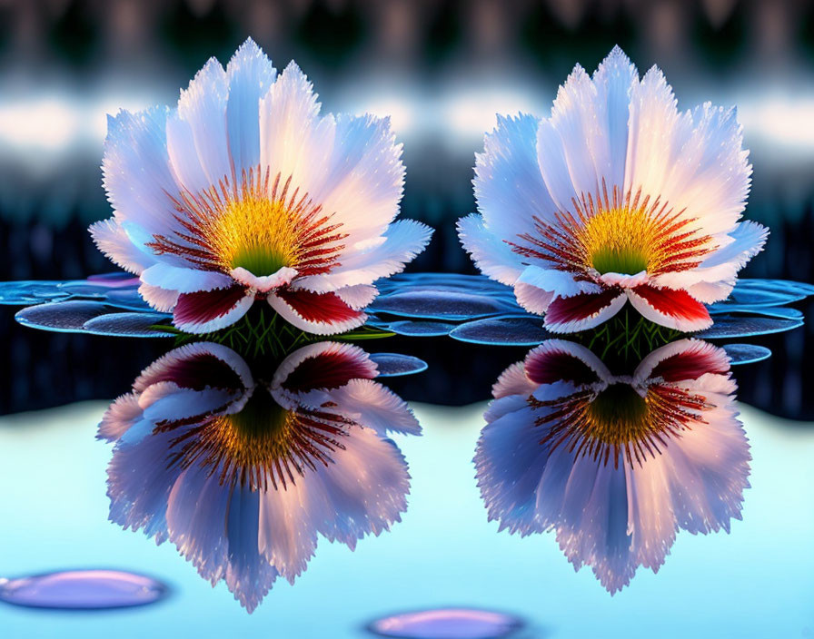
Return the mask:
<svg viewBox="0 0 814 639">
<path fill-rule="evenodd" d="M 429 241 L 393 222 L 401 153 L 389 119 L 320 115 L 299 67 L 277 76 L 250 39 L 225 70 L 205 64 L 177 109 L 109 118 L 114 217 L 91 233 L 179 329 L 223 329 L 267 300 L 299 329 L 342 332 Z"/>
</svg>

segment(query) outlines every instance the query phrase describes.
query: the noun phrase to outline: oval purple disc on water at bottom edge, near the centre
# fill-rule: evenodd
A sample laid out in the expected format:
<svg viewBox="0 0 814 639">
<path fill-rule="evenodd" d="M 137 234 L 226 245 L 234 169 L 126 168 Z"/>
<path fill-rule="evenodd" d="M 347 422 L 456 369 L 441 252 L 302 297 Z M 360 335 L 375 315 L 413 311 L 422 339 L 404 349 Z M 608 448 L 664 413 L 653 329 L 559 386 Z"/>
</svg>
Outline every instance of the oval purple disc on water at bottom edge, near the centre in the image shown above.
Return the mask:
<svg viewBox="0 0 814 639">
<path fill-rule="evenodd" d="M 368 625 L 373 634 L 404 639 L 498 639 L 520 630 L 511 614 L 475 608 L 435 608 L 391 614 Z"/>
</svg>

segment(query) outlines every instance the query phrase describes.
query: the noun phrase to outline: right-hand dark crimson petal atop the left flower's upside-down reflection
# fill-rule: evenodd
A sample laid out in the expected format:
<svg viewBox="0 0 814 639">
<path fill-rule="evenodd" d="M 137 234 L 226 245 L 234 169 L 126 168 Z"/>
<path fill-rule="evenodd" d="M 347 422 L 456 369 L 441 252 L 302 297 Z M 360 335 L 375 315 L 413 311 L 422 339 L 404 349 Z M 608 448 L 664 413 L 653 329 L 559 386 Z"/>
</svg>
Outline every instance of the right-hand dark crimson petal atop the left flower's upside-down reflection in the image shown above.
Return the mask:
<svg viewBox="0 0 814 639">
<path fill-rule="evenodd" d="M 355 351 L 355 352 L 354 352 Z M 307 392 L 313 388 L 339 388 L 351 379 L 376 376 L 370 360 L 355 349 L 332 349 L 304 359 L 283 381 L 283 388 Z"/>
</svg>

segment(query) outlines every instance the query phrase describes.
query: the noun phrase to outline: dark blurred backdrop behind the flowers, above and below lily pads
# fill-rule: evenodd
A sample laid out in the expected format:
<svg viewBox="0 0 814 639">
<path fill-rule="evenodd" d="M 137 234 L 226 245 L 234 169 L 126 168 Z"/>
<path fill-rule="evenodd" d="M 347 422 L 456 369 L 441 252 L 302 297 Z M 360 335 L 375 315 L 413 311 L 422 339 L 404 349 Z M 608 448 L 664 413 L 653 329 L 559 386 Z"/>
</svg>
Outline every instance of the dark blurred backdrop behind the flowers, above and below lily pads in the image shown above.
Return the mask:
<svg viewBox="0 0 814 639">
<path fill-rule="evenodd" d="M 174 104 L 208 57 L 225 64 L 249 35 L 278 69 L 296 59 L 324 109 L 392 116 L 407 166 L 402 215 L 436 229 L 411 270 L 475 272 L 454 221 L 474 210 L 474 152 L 495 113 L 547 115 L 574 64 L 592 72 L 620 44 L 641 73 L 661 67 L 680 109 L 738 106 L 754 165 L 747 215 L 771 228 L 746 274 L 814 278 L 814 3 L 0 0 L 0 280 L 111 270 L 86 232 L 111 212 L 105 114 Z M 738 369 L 741 398 L 814 418 L 811 327 L 760 339 L 775 354 Z M 12 309 L 0 336 L 0 413 L 112 398 L 167 346 L 23 329 Z M 400 382 L 407 398 L 442 403 L 486 398 L 524 353 L 386 344 L 400 348 L 467 371 L 436 366 Z"/>
</svg>

